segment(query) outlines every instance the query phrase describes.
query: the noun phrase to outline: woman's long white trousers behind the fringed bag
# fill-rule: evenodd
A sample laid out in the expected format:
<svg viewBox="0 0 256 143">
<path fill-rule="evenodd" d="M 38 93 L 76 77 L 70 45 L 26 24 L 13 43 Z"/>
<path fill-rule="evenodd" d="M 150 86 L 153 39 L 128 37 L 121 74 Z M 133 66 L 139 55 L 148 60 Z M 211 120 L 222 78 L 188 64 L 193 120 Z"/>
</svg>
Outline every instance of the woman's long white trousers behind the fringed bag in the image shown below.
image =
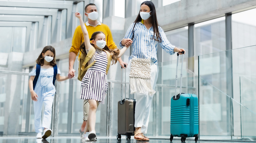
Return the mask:
<svg viewBox="0 0 256 143">
<path fill-rule="evenodd" d="M 129 62 L 128 67 L 130 69 L 131 61 Z M 150 69 L 151 69 L 150 83 L 152 88 L 155 90 L 159 68 L 158 68 L 158 65 L 151 62 Z M 148 94 L 135 93 L 135 97 L 136 97 L 136 106 L 135 106 L 134 126 L 136 128 L 141 127 L 141 132 L 146 134 L 148 129 L 149 113 L 150 113 L 153 95 L 150 96 Z"/>
</svg>

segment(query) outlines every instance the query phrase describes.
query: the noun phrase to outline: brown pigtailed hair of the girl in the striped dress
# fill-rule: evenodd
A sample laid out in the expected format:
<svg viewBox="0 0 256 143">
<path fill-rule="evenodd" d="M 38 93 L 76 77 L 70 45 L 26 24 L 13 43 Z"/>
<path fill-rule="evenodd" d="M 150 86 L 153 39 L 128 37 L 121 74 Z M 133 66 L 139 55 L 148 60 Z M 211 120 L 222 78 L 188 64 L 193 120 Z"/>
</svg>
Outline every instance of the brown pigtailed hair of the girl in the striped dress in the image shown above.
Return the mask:
<svg viewBox="0 0 256 143">
<path fill-rule="evenodd" d="M 100 34 L 100 33 L 103 33 L 103 32 L 101 32 L 101 31 L 94 32 L 94 33 L 92 34 L 92 37 L 91 37 L 90 41 L 91 41 L 91 40 L 95 40 L 95 39 L 96 39 L 96 36 L 97 36 L 98 34 Z M 103 33 L 103 34 L 104 34 L 104 33 Z M 104 35 L 105 35 L 105 34 L 104 34 Z M 94 44 L 92 44 L 92 43 L 91 43 L 91 45 L 94 46 Z M 117 63 L 117 56 L 119 55 L 120 50 L 119 50 L 119 49 L 117 49 L 117 50 L 110 49 L 107 45 L 106 45 L 103 49 L 104 49 L 105 51 L 108 51 L 108 52 L 110 53 L 110 55 L 111 55 L 111 61 L 113 62 L 112 65 L 113 65 L 113 64 L 116 64 L 116 63 Z M 80 51 L 81 51 L 83 54 L 86 53 L 86 49 L 85 49 L 85 44 L 84 44 L 84 42 L 80 45 Z"/>
</svg>

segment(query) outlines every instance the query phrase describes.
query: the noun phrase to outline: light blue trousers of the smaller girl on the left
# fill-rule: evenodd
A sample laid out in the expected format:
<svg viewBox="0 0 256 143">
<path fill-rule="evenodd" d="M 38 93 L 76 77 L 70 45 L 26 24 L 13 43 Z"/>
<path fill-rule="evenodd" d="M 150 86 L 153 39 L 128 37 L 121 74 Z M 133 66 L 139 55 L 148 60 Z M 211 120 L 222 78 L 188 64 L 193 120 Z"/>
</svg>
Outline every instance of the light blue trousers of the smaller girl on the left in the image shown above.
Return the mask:
<svg viewBox="0 0 256 143">
<path fill-rule="evenodd" d="M 42 133 L 44 128 L 49 129 L 51 125 L 52 119 L 52 106 L 53 106 L 53 98 L 55 94 L 55 89 L 48 91 L 43 88 L 35 88 L 35 93 L 38 98 L 37 101 L 33 101 L 34 103 L 34 125 L 35 132 Z M 44 103 L 44 118 L 43 123 L 42 120 L 42 107 Z"/>
</svg>

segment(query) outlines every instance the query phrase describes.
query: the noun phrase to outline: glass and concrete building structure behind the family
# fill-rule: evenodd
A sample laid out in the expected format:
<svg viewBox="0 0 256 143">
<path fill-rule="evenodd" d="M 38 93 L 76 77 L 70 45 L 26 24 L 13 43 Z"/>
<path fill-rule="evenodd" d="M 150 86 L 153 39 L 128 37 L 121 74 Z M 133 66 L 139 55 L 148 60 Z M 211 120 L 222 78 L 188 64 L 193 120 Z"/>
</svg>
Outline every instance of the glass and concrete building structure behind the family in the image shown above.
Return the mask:
<svg viewBox="0 0 256 143">
<path fill-rule="evenodd" d="M 0 135 L 34 133 L 33 103 L 28 73 L 42 48 L 52 45 L 61 75 L 68 73 L 68 56 L 75 12 L 95 3 L 98 21 L 107 24 L 117 44 L 139 13 L 144 0 L 0 0 Z M 151 0 L 159 25 L 169 41 L 186 50 L 182 91 L 199 96 L 200 139 L 250 138 L 256 128 L 255 0 Z M 84 16 L 84 21 L 87 18 Z M 122 56 L 128 62 L 131 51 Z M 158 48 L 160 74 L 151 109 L 148 135 L 170 135 L 170 99 L 175 89 L 175 55 Z M 74 69 L 78 69 L 76 60 Z M 100 136 L 117 135 L 120 100 L 119 63 L 109 74 L 107 102 L 96 114 Z M 128 81 L 128 70 L 126 71 Z M 56 83 L 53 135 L 78 134 L 82 123 L 80 82 Z M 129 83 L 126 87 L 129 94 Z"/>
</svg>

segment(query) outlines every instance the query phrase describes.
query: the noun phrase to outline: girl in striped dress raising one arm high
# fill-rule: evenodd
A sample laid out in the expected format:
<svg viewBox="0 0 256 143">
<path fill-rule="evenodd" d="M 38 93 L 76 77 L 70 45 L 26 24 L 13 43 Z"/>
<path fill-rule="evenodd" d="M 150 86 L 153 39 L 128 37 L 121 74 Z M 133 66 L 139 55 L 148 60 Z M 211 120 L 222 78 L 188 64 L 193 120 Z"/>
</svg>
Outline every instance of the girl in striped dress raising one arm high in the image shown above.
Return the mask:
<svg viewBox="0 0 256 143">
<path fill-rule="evenodd" d="M 76 12 L 75 17 L 77 17 L 80 21 L 81 29 L 84 36 L 84 43 L 80 46 L 81 52 L 88 53 L 90 48 L 95 48 L 94 56 L 88 61 L 88 65 L 93 63 L 85 73 L 82 83 L 81 83 L 81 92 L 80 99 L 88 100 L 89 106 L 89 116 L 88 121 L 90 126 L 90 133 L 88 135 L 89 140 L 96 140 L 96 132 L 95 132 L 95 121 L 96 121 L 96 109 L 97 103 L 104 104 L 104 100 L 106 97 L 106 92 L 108 88 L 107 83 L 107 52 L 111 54 L 111 60 L 113 63 L 117 63 L 117 58 L 122 56 L 123 53 L 128 49 L 127 46 L 122 48 L 121 50 L 112 50 L 109 49 L 106 45 L 106 36 L 103 32 L 98 31 L 92 34 L 91 39 L 89 39 L 89 35 L 81 14 Z M 130 45 L 129 45 L 130 46 Z M 103 51 L 104 49 L 105 51 Z M 88 123 L 86 124 L 86 128 Z"/>
</svg>

